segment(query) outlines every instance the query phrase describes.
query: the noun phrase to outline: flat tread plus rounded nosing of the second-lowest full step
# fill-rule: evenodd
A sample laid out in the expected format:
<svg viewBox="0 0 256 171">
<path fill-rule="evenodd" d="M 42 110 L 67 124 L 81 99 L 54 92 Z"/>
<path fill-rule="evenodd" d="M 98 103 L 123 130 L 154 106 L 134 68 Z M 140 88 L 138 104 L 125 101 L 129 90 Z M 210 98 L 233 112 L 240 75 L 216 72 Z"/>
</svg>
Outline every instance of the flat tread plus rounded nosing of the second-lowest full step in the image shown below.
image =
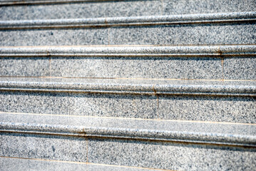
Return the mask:
<svg viewBox="0 0 256 171">
<path fill-rule="evenodd" d="M 0 89 L 89 93 L 149 93 L 153 95 L 188 94 L 255 96 L 256 81 L 1 77 Z"/>
</svg>

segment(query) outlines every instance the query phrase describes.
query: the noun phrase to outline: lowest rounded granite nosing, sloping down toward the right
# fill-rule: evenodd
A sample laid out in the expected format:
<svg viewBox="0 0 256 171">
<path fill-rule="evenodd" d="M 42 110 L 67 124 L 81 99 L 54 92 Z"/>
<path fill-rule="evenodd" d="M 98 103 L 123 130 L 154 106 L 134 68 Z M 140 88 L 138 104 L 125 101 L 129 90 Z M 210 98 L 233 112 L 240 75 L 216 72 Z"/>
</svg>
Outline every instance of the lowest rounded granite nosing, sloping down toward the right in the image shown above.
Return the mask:
<svg viewBox="0 0 256 171">
<path fill-rule="evenodd" d="M 86 127 L 33 123 L 0 123 L 0 132 L 71 135 L 96 138 L 128 138 L 143 140 L 205 142 L 218 144 L 256 145 L 256 135 L 228 133 L 197 133 L 177 130 L 148 130 L 145 128 Z"/>
</svg>

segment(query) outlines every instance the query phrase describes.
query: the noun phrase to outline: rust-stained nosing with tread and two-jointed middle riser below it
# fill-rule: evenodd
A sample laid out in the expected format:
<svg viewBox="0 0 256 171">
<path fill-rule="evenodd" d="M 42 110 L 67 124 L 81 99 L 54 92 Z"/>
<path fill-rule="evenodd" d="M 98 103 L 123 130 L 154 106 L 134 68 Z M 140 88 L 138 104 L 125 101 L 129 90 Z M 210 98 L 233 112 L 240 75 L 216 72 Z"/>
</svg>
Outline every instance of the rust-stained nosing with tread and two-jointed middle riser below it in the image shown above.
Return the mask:
<svg viewBox="0 0 256 171">
<path fill-rule="evenodd" d="M 256 80 L 256 46 L 0 47 L 0 76 Z"/>
</svg>

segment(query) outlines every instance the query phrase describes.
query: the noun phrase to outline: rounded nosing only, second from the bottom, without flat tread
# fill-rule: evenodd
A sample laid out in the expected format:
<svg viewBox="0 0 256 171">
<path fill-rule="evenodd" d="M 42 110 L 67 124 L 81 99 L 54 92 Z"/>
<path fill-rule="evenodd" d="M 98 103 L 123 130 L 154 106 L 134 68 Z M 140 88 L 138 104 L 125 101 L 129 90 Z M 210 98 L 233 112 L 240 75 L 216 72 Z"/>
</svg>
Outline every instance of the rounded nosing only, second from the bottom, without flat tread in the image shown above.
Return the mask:
<svg viewBox="0 0 256 171">
<path fill-rule="evenodd" d="M 186 81 L 188 83 L 189 81 Z M 150 95 L 241 95 L 256 96 L 256 83 L 253 86 L 242 85 L 188 85 L 184 83 L 165 85 L 158 83 L 59 83 L 0 81 L 0 90 L 76 92 L 76 93 L 127 93 Z M 221 83 L 221 82 L 220 82 Z"/>
</svg>

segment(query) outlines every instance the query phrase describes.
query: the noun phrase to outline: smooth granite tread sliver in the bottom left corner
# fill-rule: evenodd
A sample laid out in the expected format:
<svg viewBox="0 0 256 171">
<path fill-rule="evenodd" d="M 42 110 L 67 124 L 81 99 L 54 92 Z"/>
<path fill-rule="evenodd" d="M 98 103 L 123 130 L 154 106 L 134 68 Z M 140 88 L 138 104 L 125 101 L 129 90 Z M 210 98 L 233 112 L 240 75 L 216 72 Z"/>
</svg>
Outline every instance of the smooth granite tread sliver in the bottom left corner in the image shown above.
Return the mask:
<svg viewBox="0 0 256 171">
<path fill-rule="evenodd" d="M 93 163 L 85 163 L 85 162 L 63 162 L 57 160 L 33 160 L 33 159 L 23 159 L 23 158 L 14 158 L 14 157 L 0 157 L 0 170 L 5 171 L 19 171 L 19 170 L 106 170 L 106 171 L 135 171 L 135 170 L 152 170 L 147 168 L 139 168 L 139 167 L 125 167 L 118 165 L 97 165 Z"/>
</svg>

